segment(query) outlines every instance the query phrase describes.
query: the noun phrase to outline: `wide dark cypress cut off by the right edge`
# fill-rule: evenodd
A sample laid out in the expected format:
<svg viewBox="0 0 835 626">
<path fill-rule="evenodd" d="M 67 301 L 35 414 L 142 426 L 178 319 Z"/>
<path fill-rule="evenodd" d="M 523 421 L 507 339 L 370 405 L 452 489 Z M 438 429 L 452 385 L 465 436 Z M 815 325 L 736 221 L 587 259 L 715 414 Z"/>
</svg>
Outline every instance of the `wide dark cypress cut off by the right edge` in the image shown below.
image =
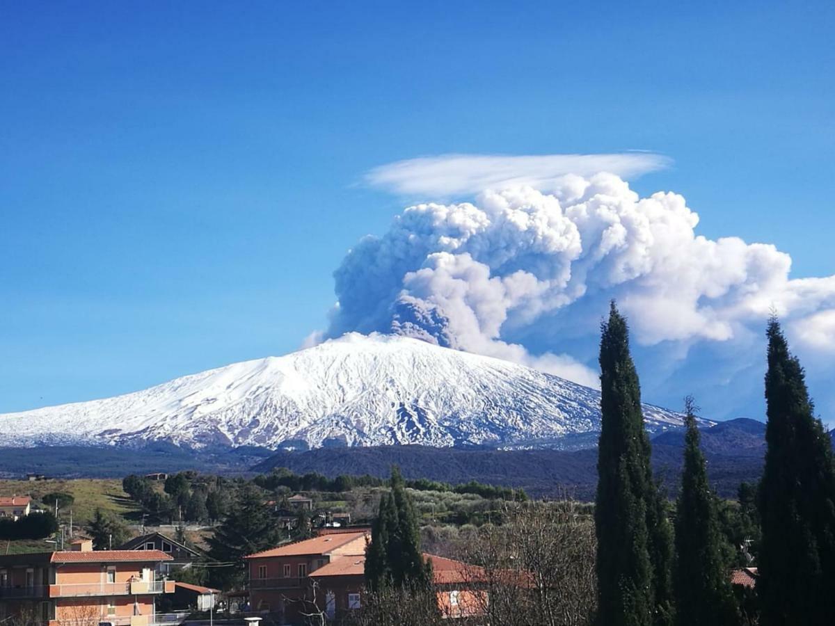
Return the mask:
<svg viewBox="0 0 835 626">
<path fill-rule="evenodd" d="M 766 465 L 759 492 L 762 623 L 832 623 L 835 474 L 805 374 L 779 321 L 768 323 Z"/>
</svg>

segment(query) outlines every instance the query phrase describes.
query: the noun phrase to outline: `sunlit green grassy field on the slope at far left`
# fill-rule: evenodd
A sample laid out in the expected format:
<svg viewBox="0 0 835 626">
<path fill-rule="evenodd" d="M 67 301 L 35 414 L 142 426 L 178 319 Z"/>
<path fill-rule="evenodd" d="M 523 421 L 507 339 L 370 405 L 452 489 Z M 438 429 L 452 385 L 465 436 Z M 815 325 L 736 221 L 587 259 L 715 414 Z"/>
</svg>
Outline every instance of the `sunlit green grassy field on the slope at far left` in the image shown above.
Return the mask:
<svg viewBox="0 0 835 626">
<path fill-rule="evenodd" d="M 114 512 L 126 520 L 137 517 L 138 507 L 122 491 L 122 481 L 112 479 L 78 478 L 74 480 L 48 480 L 38 482 L 0 480 L 0 496 L 31 496 L 40 500 L 49 492 L 67 492 L 75 498 L 73 502 L 73 525 L 83 526 L 93 517 L 95 510 Z M 49 504 L 50 510 L 52 504 Z M 68 511 L 59 511 L 61 521 L 68 520 Z"/>
</svg>

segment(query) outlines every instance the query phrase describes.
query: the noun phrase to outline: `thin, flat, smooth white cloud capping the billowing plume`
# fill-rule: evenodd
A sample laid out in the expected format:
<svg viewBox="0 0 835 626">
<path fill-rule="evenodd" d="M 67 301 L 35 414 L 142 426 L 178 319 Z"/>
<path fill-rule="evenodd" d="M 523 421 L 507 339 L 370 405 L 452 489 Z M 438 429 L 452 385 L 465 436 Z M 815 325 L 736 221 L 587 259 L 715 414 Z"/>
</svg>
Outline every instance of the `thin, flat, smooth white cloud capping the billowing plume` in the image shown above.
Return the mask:
<svg viewBox="0 0 835 626">
<path fill-rule="evenodd" d="M 397 194 L 450 197 L 524 186 L 551 191 L 557 185 L 566 184 L 565 180 L 559 181 L 565 174 L 589 177 L 609 172 L 621 178 L 635 178 L 669 164 L 670 159 L 650 152 L 538 156 L 442 154 L 381 165 L 368 172 L 365 180 Z"/>
</svg>

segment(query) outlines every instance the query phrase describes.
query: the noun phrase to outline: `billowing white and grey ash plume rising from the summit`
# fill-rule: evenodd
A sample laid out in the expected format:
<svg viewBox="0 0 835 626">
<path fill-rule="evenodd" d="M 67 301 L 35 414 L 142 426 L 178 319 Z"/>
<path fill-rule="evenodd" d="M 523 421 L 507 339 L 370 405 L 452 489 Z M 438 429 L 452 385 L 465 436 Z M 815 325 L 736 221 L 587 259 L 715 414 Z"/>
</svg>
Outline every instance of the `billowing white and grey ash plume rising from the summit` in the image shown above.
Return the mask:
<svg viewBox="0 0 835 626">
<path fill-rule="evenodd" d="M 726 386 L 762 361 L 751 339 L 772 310 L 799 350 L 832 355 L 835 276 L 792 280 L 791 258 L 775 246 L 709 240 L 698 223 L 681 195 L 640 198 L 614 174 L 565 175 L 548 193 L 520 186 L 416 204 L 343 260 L 326 336 L 396 332 L 594 385 L 590 346 L 616 298 L 658 367 L 680 367 L 689 352 L 746 359 L 713 367 Z"/>
</svg>

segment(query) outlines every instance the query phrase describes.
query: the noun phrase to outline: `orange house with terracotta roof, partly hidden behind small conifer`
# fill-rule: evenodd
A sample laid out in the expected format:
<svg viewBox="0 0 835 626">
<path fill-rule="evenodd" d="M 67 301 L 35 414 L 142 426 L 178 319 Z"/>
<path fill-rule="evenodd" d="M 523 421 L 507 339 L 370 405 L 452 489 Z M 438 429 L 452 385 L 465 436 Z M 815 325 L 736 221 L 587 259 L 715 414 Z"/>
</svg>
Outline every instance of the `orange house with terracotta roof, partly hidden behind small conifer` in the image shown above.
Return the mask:
<svg viewBox="0 0 835 626">
<path fill-rule="evenodd" d="M 329 619 L 362 607 L 365 550 L 371 536 L 323 533 L 246 557 L 251 609 L 275 623 L 303 623 L 304 613 L 323 611 Z M 424 554 L 433 565 L 438 608 L 448 618 L 481 614 L 486 592 L 482 568 Z"/>
</svg>

